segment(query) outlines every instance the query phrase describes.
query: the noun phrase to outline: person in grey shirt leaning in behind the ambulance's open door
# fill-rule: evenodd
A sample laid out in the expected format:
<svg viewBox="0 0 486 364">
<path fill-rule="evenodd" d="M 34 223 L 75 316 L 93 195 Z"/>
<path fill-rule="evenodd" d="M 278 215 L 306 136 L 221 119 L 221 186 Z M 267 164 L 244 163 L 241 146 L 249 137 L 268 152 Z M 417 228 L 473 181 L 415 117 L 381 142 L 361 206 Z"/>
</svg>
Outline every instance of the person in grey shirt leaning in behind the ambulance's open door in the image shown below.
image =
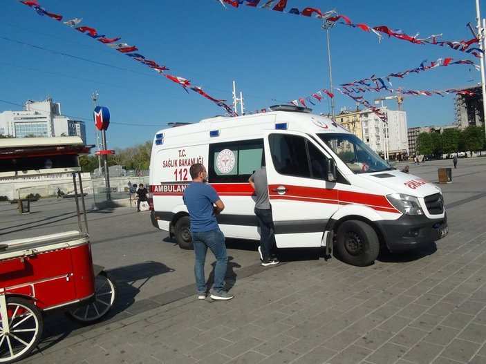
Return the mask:
<svg viewBox="0 0 486 364">
<path fill-rule="evenodd" d="M 255 215 L 258 218 L 260 226 L 260 253 L 261 265 L 279 264 L 275 255 L 277 243 L 275 242 L 275 229 L 273 225 L 272 207 L 268 198 L 267 169 L 262 166 L 261 169 L 253 173 L 248 179 L 250 185 L 256 192 Z"/>
</svg>

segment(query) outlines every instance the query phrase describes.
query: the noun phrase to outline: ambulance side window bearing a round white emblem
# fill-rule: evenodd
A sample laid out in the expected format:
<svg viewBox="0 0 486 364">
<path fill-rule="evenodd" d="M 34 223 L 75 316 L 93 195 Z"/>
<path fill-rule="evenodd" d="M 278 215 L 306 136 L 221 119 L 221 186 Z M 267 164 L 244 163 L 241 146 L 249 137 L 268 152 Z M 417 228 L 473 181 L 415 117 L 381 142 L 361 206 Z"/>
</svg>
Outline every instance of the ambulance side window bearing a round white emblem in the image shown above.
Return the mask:
<svg viewBox="0 0 486 364">
<path fill-rule="evenodd" d="M 247 183 L 263 158 L 263 139 L 209 144 L 209 183 Z"/>
</svg>

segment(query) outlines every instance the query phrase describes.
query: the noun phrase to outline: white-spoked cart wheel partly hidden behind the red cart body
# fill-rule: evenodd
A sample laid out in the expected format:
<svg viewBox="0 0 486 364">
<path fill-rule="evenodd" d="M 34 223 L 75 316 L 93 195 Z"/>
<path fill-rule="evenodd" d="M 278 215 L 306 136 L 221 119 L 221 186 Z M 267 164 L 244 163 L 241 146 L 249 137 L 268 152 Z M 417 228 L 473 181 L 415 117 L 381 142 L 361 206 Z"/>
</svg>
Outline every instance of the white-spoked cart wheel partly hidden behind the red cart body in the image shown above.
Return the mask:
<svg viewBox="0 0 486 364">
<path fill-rule="evenodd" d="M 78 323 L 97 323 L 111 312 L 117 296 L 118 287 L 113 277 L 100 271 L 95 277 L 95 300 L 66 312 L 66 315 Z"/>
</svg>

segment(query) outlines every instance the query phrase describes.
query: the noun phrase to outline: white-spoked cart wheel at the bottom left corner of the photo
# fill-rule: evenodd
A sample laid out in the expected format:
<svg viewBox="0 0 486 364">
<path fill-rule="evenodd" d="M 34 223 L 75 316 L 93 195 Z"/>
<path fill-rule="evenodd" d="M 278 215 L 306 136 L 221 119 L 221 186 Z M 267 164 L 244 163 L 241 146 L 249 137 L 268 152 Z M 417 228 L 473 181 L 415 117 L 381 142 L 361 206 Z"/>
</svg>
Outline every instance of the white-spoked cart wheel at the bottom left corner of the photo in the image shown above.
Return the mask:
<svg viewBox="0 0 486 364">
<path fill-rule="evenodd" d="M 39 308 L 24 298 L 7 298 L 9 332 L 0 318 L 0 363 L 25 358 L 37 346 L 42 334 Z"/>
</svg>

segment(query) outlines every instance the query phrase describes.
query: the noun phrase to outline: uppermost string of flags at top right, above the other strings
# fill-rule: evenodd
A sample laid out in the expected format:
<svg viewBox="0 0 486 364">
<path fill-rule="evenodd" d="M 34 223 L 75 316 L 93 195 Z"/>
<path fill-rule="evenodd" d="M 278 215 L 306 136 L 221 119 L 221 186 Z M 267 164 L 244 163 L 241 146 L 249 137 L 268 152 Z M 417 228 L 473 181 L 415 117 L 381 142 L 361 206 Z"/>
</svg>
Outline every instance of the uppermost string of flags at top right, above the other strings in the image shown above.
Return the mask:
<svg viewBox="0 0 486 364">
<path fill-rule="evenodd" d="M 239 8 L 240 5 L 245 6 L 252 6 L 254 8 L 259 7 L 262 9 L 268 10 L 275 10 L 278 12 L 286 12 L 285 9 L 287 7 L 288 0 L 270 0 L 270 1 L 261 1 L 261 0 L 217 0 L 223 6 L 228 4 L 233 8 Z M 276 3 L 277 2 L 277 3 Z M 259 4 L 262 3 L 261 6 Z M 273 6 L 275 4 L 275 6 Z M 272 8 L 273 6 L 273 8 Z M 225 6 L 226 8 L 226 6 Z M 425 38 L 418 38 L 418 33 L 414 36 L 407 35 L 403 30 L 400 29 L 391 29 L 388 26 L 368 26 L 364 23 L 353 23 L 351 19 L 346 17 L 345 15 L 337 15 L 335 10 L 330 10 L 328 12 L 321 12 L 321 10 L 317 8 L 304 8 L 302 11 L 298 8 L 290 8 L 288 14 L 293 15 L 303 15 L 305 17 L 316 17 L 321 19 L 325 23 L 339 23 L 345 26 L 349 26 L 350 28 L 358 28 L 363 30 L 364 32 L 373 32 L 377 37 L 378 40 L 381 41 L 383 39 L 383 35 L 388 35 L 389 38 L 394 37 L 397 39 L 401 39 L 404 41 L 409 41 L 413 44 L 431 44 L 434 46 L 441 46 L 441 47 L 448 47 L 454 50 L 459 50 L 460 52 L 470 53 L 474 55 L 474 57 L 480 58 L 480 54 L 484 53 L 484 50 L 481 50 L 477 47 L 471 47 L 473 44 L 478 44 L 479 39 L 473 38 L 468 41 L 438 41 L 438 37 L 441 37 L 442 34 L 438 35 L 431 35 Z"/>
</svg>

